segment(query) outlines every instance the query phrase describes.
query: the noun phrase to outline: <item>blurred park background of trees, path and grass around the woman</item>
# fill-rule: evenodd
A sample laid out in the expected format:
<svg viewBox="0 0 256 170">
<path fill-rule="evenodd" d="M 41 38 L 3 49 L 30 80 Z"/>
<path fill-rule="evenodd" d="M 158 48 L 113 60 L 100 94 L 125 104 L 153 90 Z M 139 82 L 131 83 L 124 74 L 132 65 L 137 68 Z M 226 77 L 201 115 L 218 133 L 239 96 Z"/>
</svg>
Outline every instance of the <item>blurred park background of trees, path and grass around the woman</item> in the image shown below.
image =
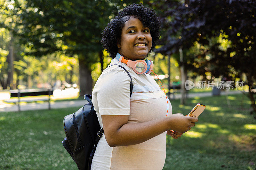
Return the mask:
<svg viewBox="0 0 256 170">
<path fill-rule="evenodd" d="M 110 63 L 101 33 L 132 3 L 154 9 L 161 20 L 160 39 L 147 59 L 173 113 L 206 105 L 181 143 L 167 137 L 164 169 L 181 163 L 181 169 L 256 168 L 254 0 L 0 0 L 0 169 L 76 168 L 61 145 L 62 120 L 83 106 L 84 94 L 92 93 Z M 25 111 L 48 108 L 39 106 L 44 100 L 56 109 Z M 24 106 L 19 113 L 17 103 L 19 110 Z M 9 137 L 13 142 L 6 144 Z M 29 146 L 35 152 L 25 152 Z"/>
</svg>

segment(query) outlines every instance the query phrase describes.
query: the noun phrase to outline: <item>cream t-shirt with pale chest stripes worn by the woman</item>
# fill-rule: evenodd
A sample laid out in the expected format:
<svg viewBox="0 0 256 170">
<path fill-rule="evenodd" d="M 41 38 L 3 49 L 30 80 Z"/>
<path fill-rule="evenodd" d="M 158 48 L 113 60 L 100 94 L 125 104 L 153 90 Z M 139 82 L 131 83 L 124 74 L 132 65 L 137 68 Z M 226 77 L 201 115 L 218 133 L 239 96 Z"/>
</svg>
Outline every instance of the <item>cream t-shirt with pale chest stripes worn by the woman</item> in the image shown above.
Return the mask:
<svg viewBox="0 0 256 170">
<path fill-rule="evenodd" d="M 166 116 L 167 101 L 164 92 L 148 74 L 137 74 L 116 58 L 109 65 L 118 64 L 129 71 L 133 90 L 130 97 L 130 77 L 119 66 L 103 70 L 92 91 L 92 103 L 100 115 L 129 115 L 128 123 L 140 123 Z M 168 115 L 172 114 L 170 101 Z M 105 136 L 100 139 L 93 160 L 92 170 L 109 169 L 163 169 L 166 155 L 166 132 L 143 143 L 110 147 Z"/>
</svg>

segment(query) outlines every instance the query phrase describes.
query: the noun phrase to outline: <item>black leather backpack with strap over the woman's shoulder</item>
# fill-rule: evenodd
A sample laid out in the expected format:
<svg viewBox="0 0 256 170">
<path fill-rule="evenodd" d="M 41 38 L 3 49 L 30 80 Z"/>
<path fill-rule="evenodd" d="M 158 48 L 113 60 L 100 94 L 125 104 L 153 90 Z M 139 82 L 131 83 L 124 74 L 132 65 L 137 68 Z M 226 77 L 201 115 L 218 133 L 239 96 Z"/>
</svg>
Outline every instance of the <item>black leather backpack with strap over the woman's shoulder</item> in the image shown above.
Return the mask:
<svg viewBox="0 0 256 170">
<path fill-rule="evenodd" d="M 132 77 L 124 67 L 118 66 L 123 68 L 131 78 L 131 96 Z M 76 162 L 79 170 L 90 170 L 96 146 L 103 136 L 104 130 L 100 128 L 98 117 L 92 105 L 92 96 L 86 94 L 84 99 L 89 103 L 86 103 L 75 113 L 65 116 L 63 120 L 66 137 L 62 144 Z"/>
</svg>

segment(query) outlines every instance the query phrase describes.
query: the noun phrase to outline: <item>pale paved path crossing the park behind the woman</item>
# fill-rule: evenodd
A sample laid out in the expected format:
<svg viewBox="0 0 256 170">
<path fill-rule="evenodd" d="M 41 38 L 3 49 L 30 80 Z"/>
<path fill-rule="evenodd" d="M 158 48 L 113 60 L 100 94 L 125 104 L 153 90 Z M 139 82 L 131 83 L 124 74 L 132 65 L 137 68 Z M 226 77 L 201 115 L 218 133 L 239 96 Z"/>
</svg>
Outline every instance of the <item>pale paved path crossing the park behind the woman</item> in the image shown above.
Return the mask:
<svg viewBox="0 0 256 170">
<path fill-rule="evenodd" d="M 239 94 L 240 91 L 226 91 L 221 92 L 220 95 L 229 95 L 229 94 Z M 188 93 L 188 98 L 193 97 L 209 97 L 212 96 L 212 92 L 197 92 L 197 93 Z M 170 95 L 170 99 L 180 99 L 181 94 Z M 82 107 L 85 104 L 86 100 L 73 100 L 73 101 L 51 101 L 51 108 L 67 108 L 67 107 Z M 20 105 L 20 110 L 40 110 L 48 109 L 48 102 L 44 103 L 25 103 Z M 18 105 L 12 104 L 0 104 L 0 112 L 15 112 L 18 111 Z"/>
</svg>

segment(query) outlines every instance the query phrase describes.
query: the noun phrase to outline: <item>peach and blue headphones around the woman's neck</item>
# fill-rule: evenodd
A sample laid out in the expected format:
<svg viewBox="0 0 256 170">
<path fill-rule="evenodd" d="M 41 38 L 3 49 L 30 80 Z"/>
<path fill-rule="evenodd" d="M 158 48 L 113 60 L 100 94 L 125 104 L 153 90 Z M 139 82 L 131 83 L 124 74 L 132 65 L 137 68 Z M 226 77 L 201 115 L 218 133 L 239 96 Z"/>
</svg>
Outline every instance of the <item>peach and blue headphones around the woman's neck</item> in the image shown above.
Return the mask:
<svg viewBox="0 0 256 170">
<path fill-rule="evenodd" d="M 151 60 L 126 60 L 124 56 L 120 55 L 119 53 L 116 54 L 116 59 L 121 62 L 125 63 L 127 66 L 132 67 L 132 70 L 137 74 L 150 74 L 153 70 L 154 64 Z"/>
</svg>

